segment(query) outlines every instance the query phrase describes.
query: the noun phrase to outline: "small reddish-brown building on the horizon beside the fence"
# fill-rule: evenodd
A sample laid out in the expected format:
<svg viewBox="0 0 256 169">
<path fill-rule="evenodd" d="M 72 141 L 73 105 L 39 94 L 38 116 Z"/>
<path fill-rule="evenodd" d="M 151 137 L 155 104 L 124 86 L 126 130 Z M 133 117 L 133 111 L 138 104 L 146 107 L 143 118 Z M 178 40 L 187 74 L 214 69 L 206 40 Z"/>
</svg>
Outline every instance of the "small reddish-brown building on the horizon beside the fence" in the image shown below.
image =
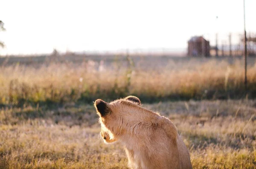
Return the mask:
<svg viewBox="0 0 256 169">
<path fill-rule="evenodd" d="M 189 56 L 210 56 L 210 43 L 202 36 L 194 36 L 188 41 Z"/>
</svg>

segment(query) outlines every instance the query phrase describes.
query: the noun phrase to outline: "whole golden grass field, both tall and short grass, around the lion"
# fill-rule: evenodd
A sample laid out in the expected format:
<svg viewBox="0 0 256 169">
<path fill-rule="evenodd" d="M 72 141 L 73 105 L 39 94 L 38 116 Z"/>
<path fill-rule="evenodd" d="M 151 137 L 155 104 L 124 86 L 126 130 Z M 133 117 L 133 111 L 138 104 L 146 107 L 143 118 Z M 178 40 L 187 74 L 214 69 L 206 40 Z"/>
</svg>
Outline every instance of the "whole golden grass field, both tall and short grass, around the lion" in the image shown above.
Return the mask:
<svg viewBox="0 0 256 169">
<path fill-rule="evenodd" d="M 99 137 L 97 98 L 136 95 L 169 117 L 195 169 L 256 168 L 256 64 L 241 58 L 111 57 L 0 67 L 0 169 L 125 169 Z M 171 157 L 170 157 L 171 158 Z"/>
</svg>

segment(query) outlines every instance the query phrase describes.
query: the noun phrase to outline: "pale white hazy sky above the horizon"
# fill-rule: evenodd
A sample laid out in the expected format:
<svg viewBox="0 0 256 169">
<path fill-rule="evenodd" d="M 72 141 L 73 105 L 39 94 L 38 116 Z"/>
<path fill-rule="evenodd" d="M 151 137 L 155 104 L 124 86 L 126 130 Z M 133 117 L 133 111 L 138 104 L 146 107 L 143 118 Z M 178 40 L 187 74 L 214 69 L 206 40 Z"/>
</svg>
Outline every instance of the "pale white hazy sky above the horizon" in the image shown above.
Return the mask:
<svg viewBox="0 0 256 169">
<path fill-rule="evenodd" d="M 256 32 L 256 0 L 245 1 Z M 243 0 L 0 0 L 0 20 L 0 54 L 180 49 L 193 35 L 242 32 Z"/>
</svg>

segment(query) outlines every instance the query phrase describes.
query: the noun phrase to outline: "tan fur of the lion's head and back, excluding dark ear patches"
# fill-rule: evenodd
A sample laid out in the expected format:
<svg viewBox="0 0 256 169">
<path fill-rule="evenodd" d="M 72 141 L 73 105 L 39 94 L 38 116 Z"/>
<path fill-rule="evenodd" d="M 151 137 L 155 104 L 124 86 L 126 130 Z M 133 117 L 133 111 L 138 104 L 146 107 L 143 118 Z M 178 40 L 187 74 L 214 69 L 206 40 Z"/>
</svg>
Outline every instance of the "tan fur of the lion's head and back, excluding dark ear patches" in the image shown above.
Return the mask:
<svg viewBox="0 0 256 169">
<path fill-rule="evenodd" d="M 192 169 L 189 151 L 175 125 L 138 103 L 126 97 L 106 103 L 104 116 L 97 110 L 105 143 L 121 142 L 133 169 Z"/>
</svg>

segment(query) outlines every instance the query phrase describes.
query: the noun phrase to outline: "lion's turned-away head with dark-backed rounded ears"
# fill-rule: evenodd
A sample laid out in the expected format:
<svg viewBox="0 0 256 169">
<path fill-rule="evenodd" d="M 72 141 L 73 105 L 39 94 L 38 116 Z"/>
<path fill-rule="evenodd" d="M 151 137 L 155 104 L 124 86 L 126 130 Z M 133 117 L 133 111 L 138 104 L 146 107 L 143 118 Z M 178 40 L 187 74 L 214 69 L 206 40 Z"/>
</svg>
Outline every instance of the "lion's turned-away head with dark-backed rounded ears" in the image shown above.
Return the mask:
<svg viewBox="0 0 256 169">
<path fill-rule="evenodd" d="M 135 96 L 128 96 L 111 103 L 101 99 L 94 102 L 101 123 L 100 135 L 105 143 L 113 143 L 122 137 L 127 131 L 128 121 L 136 118 L 136 112 L 132 108 L 140 104 L 140 99 Z"/>
</svg>

